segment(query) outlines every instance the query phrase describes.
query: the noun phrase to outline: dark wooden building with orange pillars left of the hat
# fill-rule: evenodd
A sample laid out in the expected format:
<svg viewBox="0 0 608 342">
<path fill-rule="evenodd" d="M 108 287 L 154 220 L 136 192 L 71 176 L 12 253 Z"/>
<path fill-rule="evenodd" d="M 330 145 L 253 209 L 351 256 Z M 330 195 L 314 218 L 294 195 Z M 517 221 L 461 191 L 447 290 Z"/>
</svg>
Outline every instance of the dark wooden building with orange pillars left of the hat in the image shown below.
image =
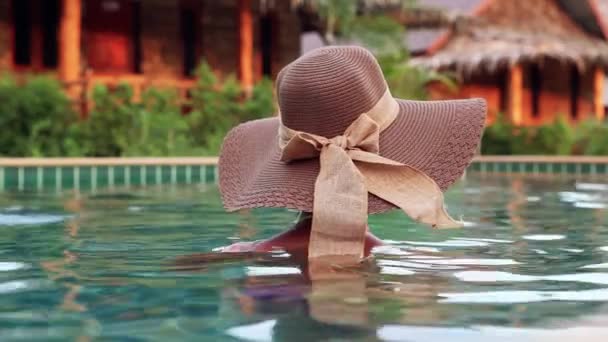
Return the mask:
<svg viewBox="0 0 608 342">
<path fill-rule="evenodd" d="M 49 72 L 75 98 L 97 83 L 182 90 L 206 59 L 247 89 L 300 54 L 280 0 L 0 0 L 0 70 Z"/>
</svg>

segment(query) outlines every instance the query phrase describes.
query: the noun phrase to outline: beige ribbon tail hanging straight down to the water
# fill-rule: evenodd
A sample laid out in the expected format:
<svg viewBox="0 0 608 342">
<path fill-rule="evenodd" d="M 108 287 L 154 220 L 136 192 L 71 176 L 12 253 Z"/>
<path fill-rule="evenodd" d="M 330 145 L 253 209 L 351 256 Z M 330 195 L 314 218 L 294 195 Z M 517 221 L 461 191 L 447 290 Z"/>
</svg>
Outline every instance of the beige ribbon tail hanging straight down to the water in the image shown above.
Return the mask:
<svg viewBox="0 0 608 342">
<path fill-rule="evenodd" d="M 324 146 L 320 163 L 308 258 L 359 262 L 367 230 L 367 189 L 362 175 L 337 146 Z"/>
</svg>

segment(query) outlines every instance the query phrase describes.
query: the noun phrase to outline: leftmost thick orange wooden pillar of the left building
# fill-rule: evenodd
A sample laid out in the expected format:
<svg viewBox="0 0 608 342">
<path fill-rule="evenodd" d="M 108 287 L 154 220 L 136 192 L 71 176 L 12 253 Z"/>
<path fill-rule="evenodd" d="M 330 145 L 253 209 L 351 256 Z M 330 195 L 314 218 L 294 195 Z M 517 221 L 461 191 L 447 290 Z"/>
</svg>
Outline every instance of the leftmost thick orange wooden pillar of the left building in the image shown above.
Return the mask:
<svg viewBox="0 0 608 342">
<path fill-rule="evenodd" d="M 81 0 L 63 0 L 59 26 L 59 78 L 76 98 L 80 79 Z"/>
</svg>

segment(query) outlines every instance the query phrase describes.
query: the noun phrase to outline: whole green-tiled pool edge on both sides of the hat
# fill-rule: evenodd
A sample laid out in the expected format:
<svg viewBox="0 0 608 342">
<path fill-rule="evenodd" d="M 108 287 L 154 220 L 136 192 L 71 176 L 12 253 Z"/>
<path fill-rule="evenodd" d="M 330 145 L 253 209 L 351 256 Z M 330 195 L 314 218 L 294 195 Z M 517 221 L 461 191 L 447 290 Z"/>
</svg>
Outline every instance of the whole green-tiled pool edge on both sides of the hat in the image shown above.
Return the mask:
<svg viewBox="0 0 608 342">
<path fill-rule="evenodd" d="M 0 158 L 0 192 L 218 182 L 218 157 Z M 476 156 L 468 174 L 608 177 L 608 156 Z"/>
</svg>

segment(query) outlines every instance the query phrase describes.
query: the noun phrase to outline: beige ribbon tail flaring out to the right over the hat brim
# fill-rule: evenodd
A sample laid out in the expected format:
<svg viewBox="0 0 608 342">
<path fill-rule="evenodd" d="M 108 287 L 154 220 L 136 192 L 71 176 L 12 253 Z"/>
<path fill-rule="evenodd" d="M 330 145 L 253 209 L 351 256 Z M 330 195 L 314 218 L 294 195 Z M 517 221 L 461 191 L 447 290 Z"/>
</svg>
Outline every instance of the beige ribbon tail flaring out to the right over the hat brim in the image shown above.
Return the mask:
<svg viewBox="0 0 608 342">
<path fill-rule="evenodd" d="M 463 226 L 448 214 L 443 193 L 432 178 L 413 167 L 378 155 L 361 152 L 357 155 L 357 167 L 370 193 L 401 208 L 415 221 L 433 228 Z"/>
</svg>

